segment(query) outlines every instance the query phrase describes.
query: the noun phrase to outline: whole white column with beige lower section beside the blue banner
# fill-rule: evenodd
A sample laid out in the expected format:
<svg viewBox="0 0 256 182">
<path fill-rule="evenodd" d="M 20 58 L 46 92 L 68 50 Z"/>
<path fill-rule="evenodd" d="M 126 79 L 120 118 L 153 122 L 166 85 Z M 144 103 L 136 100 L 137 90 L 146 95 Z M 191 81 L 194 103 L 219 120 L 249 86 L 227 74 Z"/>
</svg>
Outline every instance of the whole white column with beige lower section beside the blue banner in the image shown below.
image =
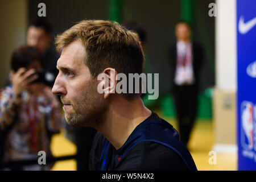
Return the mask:
<svg viewBox="0 0 256 182">
<path fill-rule="evenodd" d="M 216 0 L 216 88 L 214 150 L 236 152 L 237 28 L 236 0 Z"/>
</svg>

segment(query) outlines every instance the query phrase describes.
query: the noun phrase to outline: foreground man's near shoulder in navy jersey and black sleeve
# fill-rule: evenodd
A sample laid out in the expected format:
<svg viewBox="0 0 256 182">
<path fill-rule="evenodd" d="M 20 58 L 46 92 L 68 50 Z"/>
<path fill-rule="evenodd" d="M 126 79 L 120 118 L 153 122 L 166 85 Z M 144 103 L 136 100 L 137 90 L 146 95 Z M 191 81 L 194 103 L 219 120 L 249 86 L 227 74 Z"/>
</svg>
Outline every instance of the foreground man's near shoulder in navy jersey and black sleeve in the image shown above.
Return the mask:
<svg viewBox="0 0 256 182">
<path fill-rule="evenodd" d="M 179 141 L 179 134 L 156 113 L 152 112 L 132 135 L 137 136 L 137 140 L 126 143 L 125 148 L 130 150 L 123 152 L 123 160 L 117 170 L 188 169 L 181 158 L 186 150 Z"/>
</svg>

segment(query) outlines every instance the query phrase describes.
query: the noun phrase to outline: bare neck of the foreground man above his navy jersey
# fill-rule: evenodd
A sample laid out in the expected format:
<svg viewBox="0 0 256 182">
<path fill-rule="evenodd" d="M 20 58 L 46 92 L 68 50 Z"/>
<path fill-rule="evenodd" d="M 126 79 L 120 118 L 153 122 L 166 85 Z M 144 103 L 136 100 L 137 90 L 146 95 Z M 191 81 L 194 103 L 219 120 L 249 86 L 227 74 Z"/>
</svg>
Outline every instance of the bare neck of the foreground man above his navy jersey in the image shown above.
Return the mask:
<svg viewBox="0 0 256 182">
<path fill-rule="evenodd" d="M 116 150 L 123 146 L 135 127 L 151 115 L 151 111 L 144 106 L 141 97 L 138 96 L 132 101 L 123 97 L 119 99 L 119 101 L 110 101 L 106 121 L 96 127 Z"/>
</svg>

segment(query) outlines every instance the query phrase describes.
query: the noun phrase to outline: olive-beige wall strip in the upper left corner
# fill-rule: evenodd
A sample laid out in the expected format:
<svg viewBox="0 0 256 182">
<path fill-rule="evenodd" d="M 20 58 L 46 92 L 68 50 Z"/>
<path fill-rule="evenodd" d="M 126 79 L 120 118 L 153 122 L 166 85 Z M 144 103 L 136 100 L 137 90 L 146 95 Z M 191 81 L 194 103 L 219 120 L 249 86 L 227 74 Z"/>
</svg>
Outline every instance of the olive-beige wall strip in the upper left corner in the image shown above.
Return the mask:
<svg viewBox="0 0 256 182">
<path fill-rule="evenodd" d="M 11 53 L 26 43 L 27 0 L 1 0 L 0 87 L 10 71 Z"/>
</svg>

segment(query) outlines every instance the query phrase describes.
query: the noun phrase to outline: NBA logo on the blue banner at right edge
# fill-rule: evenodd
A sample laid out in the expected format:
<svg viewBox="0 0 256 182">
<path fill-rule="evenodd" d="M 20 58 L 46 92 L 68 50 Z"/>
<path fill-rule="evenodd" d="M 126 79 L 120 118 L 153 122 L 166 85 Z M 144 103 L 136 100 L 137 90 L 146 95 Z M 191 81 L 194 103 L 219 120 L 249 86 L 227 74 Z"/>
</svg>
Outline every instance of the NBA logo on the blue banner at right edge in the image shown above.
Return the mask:
<svg viewBox="0 0 256 182">
<path fill-rule="evenodd" d="M 253 103 L 243 101 L 241 104 L 241 144 L 245 150 L 254 149 L 256 127 L 254 120 Z"/>
</svg>

